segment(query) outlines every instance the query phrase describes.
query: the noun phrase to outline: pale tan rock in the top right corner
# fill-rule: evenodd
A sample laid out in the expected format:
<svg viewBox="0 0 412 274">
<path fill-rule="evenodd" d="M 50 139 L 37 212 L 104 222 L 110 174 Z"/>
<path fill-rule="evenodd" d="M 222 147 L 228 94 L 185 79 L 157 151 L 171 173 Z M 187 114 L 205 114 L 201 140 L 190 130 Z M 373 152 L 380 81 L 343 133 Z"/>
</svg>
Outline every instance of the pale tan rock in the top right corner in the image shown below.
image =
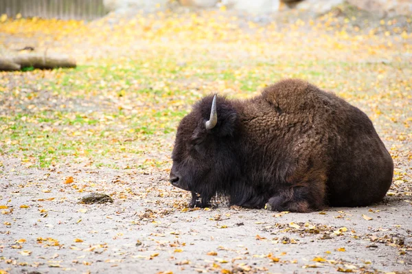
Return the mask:
<svg viewBox="0 0 412 274">
<path fill-rule="evenodd" d="M 355 5 L 361 10 L 373 12 L 380 16 L 411 15 L 411 0 L 348 0 L 351 5 Z"/>
</svg>

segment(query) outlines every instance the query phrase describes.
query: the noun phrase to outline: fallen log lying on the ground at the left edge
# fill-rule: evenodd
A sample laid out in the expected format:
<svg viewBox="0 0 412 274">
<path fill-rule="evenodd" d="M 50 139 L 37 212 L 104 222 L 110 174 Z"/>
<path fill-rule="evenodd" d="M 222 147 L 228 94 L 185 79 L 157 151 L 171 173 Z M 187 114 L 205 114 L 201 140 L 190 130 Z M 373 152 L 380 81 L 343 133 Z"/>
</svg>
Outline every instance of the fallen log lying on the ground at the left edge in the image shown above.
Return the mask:
<svg viewBox="0 0 412 274">
<path fill-rule="evenodd" d="M 46 54 L 19 54 L 9 58 L 0 56 L 0 71 L 19 71 L 26 67 L 56 69 L 76 67 L 76 60 L 65 56 Z"/>
</svg>

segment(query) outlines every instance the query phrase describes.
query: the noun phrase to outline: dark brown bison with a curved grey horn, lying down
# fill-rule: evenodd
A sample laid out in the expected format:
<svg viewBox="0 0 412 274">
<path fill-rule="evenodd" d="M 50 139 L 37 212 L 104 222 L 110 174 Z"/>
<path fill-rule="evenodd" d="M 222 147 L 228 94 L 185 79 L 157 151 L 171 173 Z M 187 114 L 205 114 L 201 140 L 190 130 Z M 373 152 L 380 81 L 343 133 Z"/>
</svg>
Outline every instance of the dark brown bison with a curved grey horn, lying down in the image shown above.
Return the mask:
<svg viewBox="0 0 412 274">
<path fill-rule="evenodd" d="M 381 201 L 391 155 L 355 106 L 303 80 L 282 80 L 250 100 L 207 96 L 181 120 L 170 183 L 190 207 L 230 205 L 311 212 Z"/>
</svg>

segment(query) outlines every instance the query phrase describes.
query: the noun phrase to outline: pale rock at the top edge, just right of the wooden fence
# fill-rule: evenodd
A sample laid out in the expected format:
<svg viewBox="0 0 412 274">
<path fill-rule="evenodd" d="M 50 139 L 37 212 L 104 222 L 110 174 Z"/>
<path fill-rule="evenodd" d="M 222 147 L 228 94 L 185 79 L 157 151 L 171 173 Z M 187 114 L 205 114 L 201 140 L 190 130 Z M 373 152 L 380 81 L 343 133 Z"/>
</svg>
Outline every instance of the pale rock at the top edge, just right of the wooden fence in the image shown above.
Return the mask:
<svg viewBox="0 0 412 274">
<path fill-rule="evenodd" d="M 166 8 L 168 0 L 103 0 L 108 12 L 124 12 L 127 10 L 144 10 L 152 12 Z"/>
</svg>

